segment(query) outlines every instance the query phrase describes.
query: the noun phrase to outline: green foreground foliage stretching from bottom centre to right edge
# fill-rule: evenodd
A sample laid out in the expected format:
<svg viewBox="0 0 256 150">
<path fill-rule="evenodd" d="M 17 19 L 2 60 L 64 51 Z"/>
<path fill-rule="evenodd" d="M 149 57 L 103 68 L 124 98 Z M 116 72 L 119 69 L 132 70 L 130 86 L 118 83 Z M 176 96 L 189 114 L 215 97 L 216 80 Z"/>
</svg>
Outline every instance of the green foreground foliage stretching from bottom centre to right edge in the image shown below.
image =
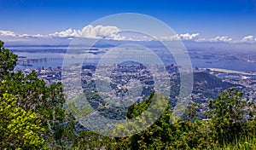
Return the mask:
<svg viewBox="0 0 256 150">
<path fill-rule="evenodd" d="M 131 105 L 127 118 L 136 118 L 143 114 L 152 102 L 153 95 L 150 95 L 147 101 Z M 170 124 L 172 111 L 168 106 L 161 117 L 147 130 L 133 136 L 116 138 L 114 147 L 115 149 L 218 149 L 224 147 L 224 144 L 233 143 L 234 139 L 230 136 L 238 141 L 247 137 L 248 133 L 251 133 L 249 136 L 255 137 L 256 119 L 245 121 L 244 114 L 250 106 L 246 101 L 241 100 L 241 96 L 241 92 L 228 89 L 218 96 L 218 100 L 211 100 L 211 110 L 208 112 L 211 114 L 211 119 L 208 121 L 198 119 L 196 110 L 200 106 L 191 101 L 183 119 Z M 122 128 L 119 130 L 125 131 Z"/>
</svg>

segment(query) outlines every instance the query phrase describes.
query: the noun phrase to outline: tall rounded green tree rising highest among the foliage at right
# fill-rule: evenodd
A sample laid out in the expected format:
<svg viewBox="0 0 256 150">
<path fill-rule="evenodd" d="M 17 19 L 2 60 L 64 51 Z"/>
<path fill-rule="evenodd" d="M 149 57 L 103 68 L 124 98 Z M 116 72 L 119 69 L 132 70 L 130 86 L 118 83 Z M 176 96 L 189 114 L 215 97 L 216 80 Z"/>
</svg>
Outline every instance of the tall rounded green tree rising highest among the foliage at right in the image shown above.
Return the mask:
<svg viewBox="0 0 256 150">
<path fill-rule="evenodd" d="M 210 100 L 210 118 L 215 127 L 220 144 L 237 140 L 245 135 L 247 101 L 234 88 L 222 91 L 217 100 Z"/>
</svg>

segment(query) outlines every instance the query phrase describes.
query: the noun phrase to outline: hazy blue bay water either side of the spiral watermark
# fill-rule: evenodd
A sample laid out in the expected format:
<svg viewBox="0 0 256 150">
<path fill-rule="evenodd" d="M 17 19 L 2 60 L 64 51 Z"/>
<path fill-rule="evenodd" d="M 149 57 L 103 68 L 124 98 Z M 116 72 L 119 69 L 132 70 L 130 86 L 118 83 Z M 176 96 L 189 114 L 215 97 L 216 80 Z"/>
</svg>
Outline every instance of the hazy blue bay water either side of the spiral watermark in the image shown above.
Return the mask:
<svg viewBox="0 0 256 150">
<path fill-rule="evenodd" d="M 18 49 L 18 50 L 17 50 Z M 69 65 L 73 65 L 75 62 L 74 58 L 81 58 L 81 53 L 66 54 L 65 49 L 53 49 L 53 48 L 40 48 L 39 50 L 32 50 L 30 48 L 15 48 L 13 52 L 24 59 L 44 59 L 44 61 L 19 61 L 16 69 L 37 69 L 42 67 L 55 67 L 62 66 L 63 60 L 66 55 L 66 62 Z M 102 56 L 108 53 L 105 50 L 103 53 L 88 53 L 84 58 L 84 63 L 94 63 L 96 64 L 101 60 Z M 165 64 L 176 64 L 175 59 L 172 55 L 167 56 L 162 53 L 160 49 L 156 50 L 155 53 L 159 56 L 160 60 Z M 244 61 L 241 59 L 220 59 L 224 58 L 224 55 L 219 56 L 218 54 L 208 55 L 207 57 L 201 57 L 201 55 L 207 55 L 204 53 L 197 54 L 195 51 L 189 53 L 190 61 L 192 66 L 199 68 L 222 68 L 241 72 L 256 72 L 256 62 L 254 61 Z M 150 58 L 149 58 L 150 59 Z"/>
</svg>

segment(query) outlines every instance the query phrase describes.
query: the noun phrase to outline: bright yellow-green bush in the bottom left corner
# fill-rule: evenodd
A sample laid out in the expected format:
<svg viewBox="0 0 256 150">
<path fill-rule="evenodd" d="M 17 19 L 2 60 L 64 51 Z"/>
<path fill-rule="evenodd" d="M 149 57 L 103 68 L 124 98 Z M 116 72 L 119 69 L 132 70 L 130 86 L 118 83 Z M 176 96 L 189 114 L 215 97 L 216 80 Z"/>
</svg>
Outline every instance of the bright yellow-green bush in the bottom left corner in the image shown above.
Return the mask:
<svg viewBox="0 0 256 150">
<path fill-rule="evenodd" d="M 15 107 L 16 103 L 13 95 L 0 97 L 0 148 L 45 149 L 46 143 L 40 136 L 44 132 L 41 120 L 32 111 Z"/>
</svg>

